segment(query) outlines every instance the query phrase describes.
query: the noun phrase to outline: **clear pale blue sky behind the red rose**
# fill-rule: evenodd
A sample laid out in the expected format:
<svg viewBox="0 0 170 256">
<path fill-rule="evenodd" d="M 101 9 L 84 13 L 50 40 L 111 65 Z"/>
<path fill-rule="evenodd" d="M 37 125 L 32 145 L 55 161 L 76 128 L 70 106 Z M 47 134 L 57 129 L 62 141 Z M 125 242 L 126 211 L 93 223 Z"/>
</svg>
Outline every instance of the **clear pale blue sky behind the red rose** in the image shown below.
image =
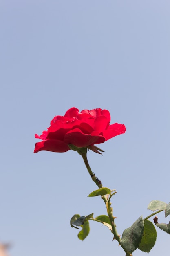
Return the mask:
<svg viewBox="0 0 170 256">
<path fill-rule="evenodd" d="M 107 227 L 90 222 L 83 242 L 70 227 L 74 214 L 106 214 L 87 197 L 97 186 L 81 156 L 33 154 L 35 133 L 71 107 L 108 109 L 126 125 L 99 145 L 103 156 L 88 153 L 117 190 L 122 234 L 151 200 L 170 201 L 169 0 L 0 0 L 0 242 L 10 256 L 124 256 Z M 169 241 L 157 229 L 150 256 L 169 255 Z"/>
</svg>

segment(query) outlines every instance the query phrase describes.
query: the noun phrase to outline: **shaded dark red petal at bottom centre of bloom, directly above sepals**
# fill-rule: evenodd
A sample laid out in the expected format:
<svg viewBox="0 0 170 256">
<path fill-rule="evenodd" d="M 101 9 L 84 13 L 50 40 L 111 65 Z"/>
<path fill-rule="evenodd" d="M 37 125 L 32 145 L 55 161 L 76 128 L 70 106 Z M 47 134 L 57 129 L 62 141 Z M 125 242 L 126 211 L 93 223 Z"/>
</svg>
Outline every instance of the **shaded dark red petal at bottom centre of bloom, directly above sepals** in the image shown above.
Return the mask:
<svg viewBox="0 0 170 256">
<path fill-rule="evenodd" d="M 105 138 L 101 135 L 90 135 L 84 134 L 78 128 L 75 128 L 69 132 L 64 137 L 64 142 L 66 144 L 73 144 L 79 148 L 84 148 L 90 145 L 103 143 Z"/>
</svg>

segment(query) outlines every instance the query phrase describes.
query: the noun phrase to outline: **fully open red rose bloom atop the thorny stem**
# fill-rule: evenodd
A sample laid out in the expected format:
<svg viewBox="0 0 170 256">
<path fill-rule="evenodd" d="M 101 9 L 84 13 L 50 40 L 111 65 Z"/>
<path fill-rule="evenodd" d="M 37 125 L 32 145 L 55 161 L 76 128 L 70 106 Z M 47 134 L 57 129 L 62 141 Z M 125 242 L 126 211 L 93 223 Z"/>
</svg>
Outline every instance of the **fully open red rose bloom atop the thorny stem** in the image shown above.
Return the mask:
<svg viewBox="0 0 170 256">
<path fill-rule="evenodd" d="M 124 124 L 110 125 L 108 110 L 96 108 L 79 112 L 77 108 L 70 108 L 64 117 L 54 117 L 50 127 L 42 135 L 35 134 L 35 138 L 42 141 L 35 144 L 34 153 L 42 150 L 66 152 L 70 150 L 69 144 L 78 148 L 90 148 L 125 131 Z"/>
</svg>

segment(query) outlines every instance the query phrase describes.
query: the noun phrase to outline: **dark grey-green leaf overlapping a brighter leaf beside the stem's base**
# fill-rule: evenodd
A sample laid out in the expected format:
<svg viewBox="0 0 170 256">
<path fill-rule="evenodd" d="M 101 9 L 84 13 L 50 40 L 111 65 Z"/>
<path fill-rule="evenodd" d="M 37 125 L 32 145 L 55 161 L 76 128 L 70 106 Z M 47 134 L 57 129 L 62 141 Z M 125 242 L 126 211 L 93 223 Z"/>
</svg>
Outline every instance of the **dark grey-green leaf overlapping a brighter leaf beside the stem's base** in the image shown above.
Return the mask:
<svg viewBox="0 0 170 256">
<path fill-rule="evenodd" d="M 128 252 L 133 252 L 139 247 L 144 232 L 144 220 L 142 216 L 137 219 L 131 227 L 125 229 L 122 234 L 121 245 Z"/>
</svg>

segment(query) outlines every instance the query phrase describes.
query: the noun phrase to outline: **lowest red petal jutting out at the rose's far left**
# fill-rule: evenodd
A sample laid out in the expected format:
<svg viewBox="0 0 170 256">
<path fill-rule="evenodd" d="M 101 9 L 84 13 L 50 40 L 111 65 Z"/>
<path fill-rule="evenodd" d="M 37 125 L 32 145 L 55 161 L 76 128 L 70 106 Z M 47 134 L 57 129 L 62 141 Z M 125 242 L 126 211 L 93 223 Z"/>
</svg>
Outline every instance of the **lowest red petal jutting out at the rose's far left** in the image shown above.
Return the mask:
<svg viewBox="0 0 170 256">
<path fill-rule="evenodd" d="M 56 139 L 48 139 L 46 141 L 35 143 L 34 153 L 37 153 L 42 150 L 52 152 L 66 152 L 70 150 L 70 148 L 63 141 Z"/>
</svg>

